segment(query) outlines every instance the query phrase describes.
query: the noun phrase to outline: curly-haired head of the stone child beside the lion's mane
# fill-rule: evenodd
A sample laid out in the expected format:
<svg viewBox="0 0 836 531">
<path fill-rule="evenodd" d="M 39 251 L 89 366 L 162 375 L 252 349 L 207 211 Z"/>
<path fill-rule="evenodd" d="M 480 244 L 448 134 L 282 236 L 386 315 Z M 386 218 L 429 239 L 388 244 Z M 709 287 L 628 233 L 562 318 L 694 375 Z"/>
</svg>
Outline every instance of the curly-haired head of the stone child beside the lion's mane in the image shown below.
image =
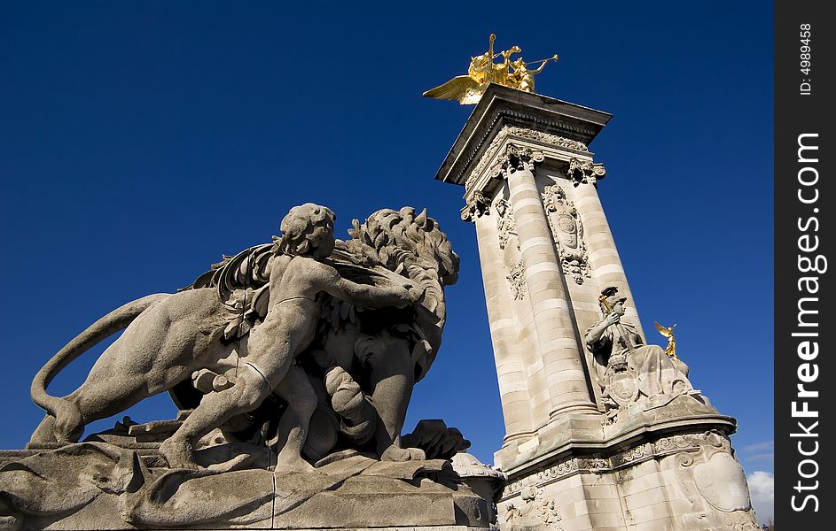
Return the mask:
<svg viewBox="0 0 836 531">
<path fill-rule="evenodd" d="M 324 258 L 334 248 L 334 213 L 318 204 L 294 206 L 282 219 L 282 237 L 274 252 L 291 256 Z"/>
</svg>

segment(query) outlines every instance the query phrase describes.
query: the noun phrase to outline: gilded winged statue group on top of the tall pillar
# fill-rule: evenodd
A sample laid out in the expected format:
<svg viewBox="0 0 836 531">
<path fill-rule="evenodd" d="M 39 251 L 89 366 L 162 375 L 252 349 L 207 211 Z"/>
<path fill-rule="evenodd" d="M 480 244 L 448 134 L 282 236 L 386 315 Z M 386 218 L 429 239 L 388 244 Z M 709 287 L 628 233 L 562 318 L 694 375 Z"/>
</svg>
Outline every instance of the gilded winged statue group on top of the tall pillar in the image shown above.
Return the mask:
<svg viewBox="0 0 836 531">
<path fill-rule="evenodd" d="M 522 58 L 511 60 L 511 56 L 520 53 L 520 47 L 516 44 L 509 50 L 494 53 L 494 40 L 496 35 L 490 35 L 488 51 L 470 59 L 470 66 L 467 68 L 467 75 L 457 75 L 440 87 L 429 89 L 424 97 L 435 99 L 457 99 L 460 104 L 473 105 L 479 103 L 488 84 L 497 83 L 512 89 L 534 92 L 534 76 L 543 71 L 543 66 L 549 61 L 557 61 L 558 54 L 551 58 L 538 61 L 524 62 Z M 494 59 L 502 56 L 502 63 L 494 63 Z M 540 63 L 534 69 L 528 69 L 528 65 Z M 513 70 L 512 70 L 513 69 Z"/>
</svg>

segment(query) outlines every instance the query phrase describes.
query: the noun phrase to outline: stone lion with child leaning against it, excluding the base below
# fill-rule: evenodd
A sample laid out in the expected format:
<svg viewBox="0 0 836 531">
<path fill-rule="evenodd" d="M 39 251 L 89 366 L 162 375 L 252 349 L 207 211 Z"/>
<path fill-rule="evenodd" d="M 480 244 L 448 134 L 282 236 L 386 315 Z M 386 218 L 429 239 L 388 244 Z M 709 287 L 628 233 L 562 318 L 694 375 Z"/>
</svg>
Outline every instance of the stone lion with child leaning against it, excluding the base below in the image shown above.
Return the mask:
<svg viewBox="0 0 836 531">
<path fill-rule="evenodd" d="M 307 221 L 295 221 L 293 238 L 293 224 L 283 222 L 273 243 L 224 257 L 175 294 L 124 304 L 68 342 L 32 382 L 32 398 L 47 415 L 30 446 L 76 442 L 90 422 L 168 391 L 186 419 L 172 439 L 192 418 L 199 426 L 177 450 L 164 451 L 163 442 L 172 466 L 186 464 L 189 445 L 208 429 L 276 425 L 270 417 L 291 418 L 288 412 L 303 419 L 278 423 L 278 439 L 286 445 L 288 433 L 301 437 L 311 460 L 340 446 L 390 460 L 423 458 L 402 448 L 401 429 L 412 387 L 441 346 L 443 288 L 457 281 L 458 257 L 426 211 L 385 209 L 362 224 L 355 219 L 342 242 L 332 236 L 330 210 L 302 207 Z M 286 311 L 288 299 L 303 307 Z M 307 320 L 292 322 L 299 316 Z M 47 393 L 61 369 L 120 331 L 80 388 Z M 293 346 L 282 350 L 278 340 Z M 276 352 L 286 361 L 264 374 Z M 253 363 L 259 353 L 262 361 Z M 265 410 L 267 395 L 277 408 Z M 233 400 L 237 409 L 223 405 Z"/>
</svg>

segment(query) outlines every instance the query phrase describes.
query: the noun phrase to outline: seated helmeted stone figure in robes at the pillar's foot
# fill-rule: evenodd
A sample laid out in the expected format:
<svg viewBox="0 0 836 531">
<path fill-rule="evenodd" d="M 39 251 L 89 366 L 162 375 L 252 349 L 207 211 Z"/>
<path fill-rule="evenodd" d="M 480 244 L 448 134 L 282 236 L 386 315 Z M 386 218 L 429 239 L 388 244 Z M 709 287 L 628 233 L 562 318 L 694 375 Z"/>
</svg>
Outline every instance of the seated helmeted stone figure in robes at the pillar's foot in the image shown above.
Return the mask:
<svg viewBox="0 0 836 531">
<path fill-rule="evenodd" d="M 621 318 L 626 298 L 617 296 L 618 289 L 601 292 L 600 304 L 604 319 L 587 329 L 584 341 L 596 361 L 598 381 L 605 380 L 608 366 L 621 363 L 637 374 L 637 396 L 640 401 L 652 396 L 677 396 L 692 390 L 688 367 L 679 358 L 669 358 L 658 345 L 645 345 L 636 327 Z M 612 359 L 611 359 L 612 358 Z"/>
</svg>

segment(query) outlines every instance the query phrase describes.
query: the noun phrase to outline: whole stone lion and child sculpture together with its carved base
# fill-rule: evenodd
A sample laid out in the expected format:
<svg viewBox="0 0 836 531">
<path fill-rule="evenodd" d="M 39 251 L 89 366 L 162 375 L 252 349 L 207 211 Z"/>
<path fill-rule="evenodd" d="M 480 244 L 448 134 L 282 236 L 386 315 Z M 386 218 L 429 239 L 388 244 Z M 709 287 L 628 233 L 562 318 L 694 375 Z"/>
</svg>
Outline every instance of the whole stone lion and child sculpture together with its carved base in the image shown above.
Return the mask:
<svg viewBox="0 0 836 531">
<path fill-rule="evenodd" d="M 358 484 L 406 496 L 405 518 L 420 524 L 434 511 L 415 482 L 431 476 L 453 504 L 454 492 L 479 499 L 446 460 L 469 445 L 455 428 L 434 421 L 401 436 L 441 344 L 456 253 L 411 207 L 355 219 L 345 242 L 334 219 L 294 207 L 273 242 L 224 256 L 177 293 L 122 305 L 52 357 L 32 384 L 46 416 L 27 450 L 0 455 L 4 528 L 329 527 L 332 496 L 349 503 Z M 79 389 L 47 393 L 121 330 Z M 176 419 L 126 417 L 79 442 L 90 422 L 166 391 Z M 396 525 L 403 515 L 387 503 L 363 502 L 353 525 Z M 487 514 L 459 510 L 488 526 Z"/>
</svg>

